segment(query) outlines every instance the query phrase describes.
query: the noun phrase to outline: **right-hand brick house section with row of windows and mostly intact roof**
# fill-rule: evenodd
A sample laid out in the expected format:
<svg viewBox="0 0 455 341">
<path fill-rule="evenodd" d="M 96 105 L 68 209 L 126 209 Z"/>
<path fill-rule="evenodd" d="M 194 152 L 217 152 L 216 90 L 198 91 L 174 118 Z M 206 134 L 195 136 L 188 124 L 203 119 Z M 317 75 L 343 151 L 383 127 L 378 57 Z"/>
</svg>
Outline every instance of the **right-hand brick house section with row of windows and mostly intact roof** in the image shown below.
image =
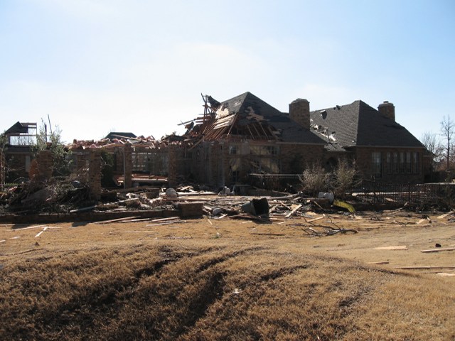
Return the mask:
<svg viewBox="0 0 455 341">
<path fill-rule="evenodd" d="M 427 149 L 395 121 L 395 106 L 378 109 L 358 100 L 310 112 L 299 122 L 326 141 L 325 166 L 340 156 L 355 160 L 360 175 L 380 181 L 423 183 L 429 173 Z"/>
</svg>

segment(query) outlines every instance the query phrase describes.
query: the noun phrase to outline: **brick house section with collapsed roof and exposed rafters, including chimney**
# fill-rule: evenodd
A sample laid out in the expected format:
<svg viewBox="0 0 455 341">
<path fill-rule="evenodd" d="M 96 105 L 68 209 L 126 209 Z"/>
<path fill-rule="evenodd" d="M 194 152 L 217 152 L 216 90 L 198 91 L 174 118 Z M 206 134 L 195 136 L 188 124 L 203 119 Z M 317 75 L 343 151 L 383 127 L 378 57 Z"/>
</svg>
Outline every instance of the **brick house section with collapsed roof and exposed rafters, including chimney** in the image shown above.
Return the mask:
<svg viewBox="0 0 455 341">
<path fill-rule="evenodd" d="M 297 101 L 283 114 L 250 92 L 225 102 L 205 97 L 205 113 L 185 136 L 191 174 L 211 185 L 247 182 L 250 173 L 300 173 L 323 158 L 326 142 L 292 117 L 308 115 Z"/>
</svg>

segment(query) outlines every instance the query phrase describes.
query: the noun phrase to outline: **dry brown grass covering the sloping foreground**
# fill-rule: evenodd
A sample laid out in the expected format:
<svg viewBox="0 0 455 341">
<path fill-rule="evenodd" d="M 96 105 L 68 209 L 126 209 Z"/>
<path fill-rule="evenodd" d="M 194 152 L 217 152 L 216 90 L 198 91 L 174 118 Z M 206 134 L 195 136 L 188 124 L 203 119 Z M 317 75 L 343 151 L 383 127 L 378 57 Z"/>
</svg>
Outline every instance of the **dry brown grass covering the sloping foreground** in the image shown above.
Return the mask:
<svg viewBox="0 0 455 341">
<path fill-rule="evenodd" d="M 419 218 L 333 216 L 359 233 L 323 238 L 302 219 L 0 227 L 0 339 L 454 340 L 455 277 L 395 269 L 455 265 L 420 252 L 455 225 Z"/>
</svg>

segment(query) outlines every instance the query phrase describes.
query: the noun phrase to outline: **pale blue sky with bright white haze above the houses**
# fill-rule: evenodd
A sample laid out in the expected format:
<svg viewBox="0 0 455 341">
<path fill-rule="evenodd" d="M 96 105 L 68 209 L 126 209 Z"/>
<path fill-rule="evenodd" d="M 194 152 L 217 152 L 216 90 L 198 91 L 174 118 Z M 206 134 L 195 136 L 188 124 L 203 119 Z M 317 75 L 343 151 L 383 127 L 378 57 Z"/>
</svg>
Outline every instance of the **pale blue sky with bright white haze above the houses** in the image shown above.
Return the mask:
<svg viewBox="0 0 455 341">
<path fill-rule="evenodd" d="M 287 112 L 395 104 L 420 138 L 455 119 L 455 1 L 0 0 L 0 130 L 64 141 L 182 133 L 250 91 Z"/>
</svg>

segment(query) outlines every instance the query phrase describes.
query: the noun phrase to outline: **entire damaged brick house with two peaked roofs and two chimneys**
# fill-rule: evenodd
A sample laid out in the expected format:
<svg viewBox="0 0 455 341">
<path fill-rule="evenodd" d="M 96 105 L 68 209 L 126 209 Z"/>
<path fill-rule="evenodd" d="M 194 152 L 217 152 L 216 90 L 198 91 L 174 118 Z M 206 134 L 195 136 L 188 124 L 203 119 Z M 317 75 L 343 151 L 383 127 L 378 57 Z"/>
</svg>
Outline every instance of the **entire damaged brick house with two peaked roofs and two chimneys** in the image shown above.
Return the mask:
<svg viewBox="0 0 455 341">
<path fill-rule="evenodd" d="M 205 96 L 205 113 L 184 135 L 188 171 L 211 185 L 247 182 L 250 173 L 299 174 L 313 163 L 331 170 L 355 160 L 365 179 L 423 182 L 426 148 L 395 122 L 392 103 L 362 101 L 310 111 L 306 99 L 279 112 L 250 92 L 225 102 Z M 188 123 L 188 122 L 187 122 Z"/>
</svg>

